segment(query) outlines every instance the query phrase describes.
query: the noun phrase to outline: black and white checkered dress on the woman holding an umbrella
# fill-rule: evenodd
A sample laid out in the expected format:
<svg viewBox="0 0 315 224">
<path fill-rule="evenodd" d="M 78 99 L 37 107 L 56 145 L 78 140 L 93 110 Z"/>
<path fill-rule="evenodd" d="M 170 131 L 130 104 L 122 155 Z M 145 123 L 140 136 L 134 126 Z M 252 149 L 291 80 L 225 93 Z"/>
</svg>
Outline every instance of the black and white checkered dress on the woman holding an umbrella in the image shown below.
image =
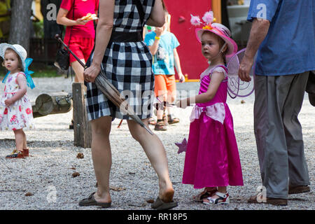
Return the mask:
<svg viewBox="0 0 315 224">
<path fill-rule="evenodd" d="M 145 23 L 153 9 L 154 0 L 141 0 L 141 3 L 145 13 Z M 137 7 L 132 4 L 132 0 L 115 1 L 113 31 L 141 31 L 143 26 L 144 24 L 141 24 L 139 20 Z M 90 58 L 92 62 L 92 57 Z M 109 44 L 102 62 L 106 77 L 127 99 L 128 104 L 141 119 L 149 118 L 152 111 L 154 76 L 151 66 L 152 55 L 143 41 Z M 131 119 L 121 113 L 119 108 L 110 102 L 101 90 L 97 89 L 95 83 L 85 84 L 87 85 L 86 107 L 89 120 L 102 116 Z"/>
</svg>

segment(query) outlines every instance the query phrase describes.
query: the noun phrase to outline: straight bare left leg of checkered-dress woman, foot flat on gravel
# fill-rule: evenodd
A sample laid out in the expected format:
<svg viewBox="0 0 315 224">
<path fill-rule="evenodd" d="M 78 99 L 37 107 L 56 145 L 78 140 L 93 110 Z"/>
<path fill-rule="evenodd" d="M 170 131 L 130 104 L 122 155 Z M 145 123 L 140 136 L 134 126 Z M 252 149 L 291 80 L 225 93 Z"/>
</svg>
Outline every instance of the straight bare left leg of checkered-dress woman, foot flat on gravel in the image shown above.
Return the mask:
<svg viewBox="0 0 315 224">
<path fill-rule="evenodd" d="M 111 117 L 105 116 L 91 121 L 92 125 L 92 160 L 97 179 L 97 202 L 111 202 L 109 193 L 109 174 L 111 172 Z"/>
</svg>

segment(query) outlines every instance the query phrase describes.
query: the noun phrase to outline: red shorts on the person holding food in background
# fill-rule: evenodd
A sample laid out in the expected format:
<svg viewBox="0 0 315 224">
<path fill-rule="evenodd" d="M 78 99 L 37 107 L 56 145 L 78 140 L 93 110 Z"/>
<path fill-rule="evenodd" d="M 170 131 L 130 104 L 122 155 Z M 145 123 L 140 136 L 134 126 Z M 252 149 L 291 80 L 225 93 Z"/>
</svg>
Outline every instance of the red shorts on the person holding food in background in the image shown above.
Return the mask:
<svg viewBox="0 0 315 224">
<path fill-rule="evenodd" d="M 68 44 L 69 40 L 64 40 L 64 43 Z M 90 57 L 93 47 L 94 38 L 71 36 L 69 48 L 79 59 L 84 59 L 86 62 Z M 70 54 L 70 63 L 71 62 L 76 62 L 76 58 Z"/>
</svg>

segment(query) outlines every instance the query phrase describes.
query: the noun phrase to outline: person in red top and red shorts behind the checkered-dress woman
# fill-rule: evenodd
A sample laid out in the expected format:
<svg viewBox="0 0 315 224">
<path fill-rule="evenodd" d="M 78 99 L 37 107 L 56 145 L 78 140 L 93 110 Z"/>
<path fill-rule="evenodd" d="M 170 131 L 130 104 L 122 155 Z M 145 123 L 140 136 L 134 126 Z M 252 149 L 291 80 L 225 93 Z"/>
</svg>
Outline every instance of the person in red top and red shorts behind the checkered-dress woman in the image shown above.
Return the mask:
<svg viewBox="0 0 315 224">
<path fill-rule="evenodd" d="M 62 0 L 58 14 L 57 24 L 66 26 L 64 43 L 85 64 L 94 47 L 94 23 L 85 22 L 81 18 L 87 13 L 97 14 L 99 0 Z M 74 12 L 73 12 L 74 10 Z M 83 83 L 83 67 L 70 55 L 70 65 L 76 73 L 74 81 Z"/>
</svg>

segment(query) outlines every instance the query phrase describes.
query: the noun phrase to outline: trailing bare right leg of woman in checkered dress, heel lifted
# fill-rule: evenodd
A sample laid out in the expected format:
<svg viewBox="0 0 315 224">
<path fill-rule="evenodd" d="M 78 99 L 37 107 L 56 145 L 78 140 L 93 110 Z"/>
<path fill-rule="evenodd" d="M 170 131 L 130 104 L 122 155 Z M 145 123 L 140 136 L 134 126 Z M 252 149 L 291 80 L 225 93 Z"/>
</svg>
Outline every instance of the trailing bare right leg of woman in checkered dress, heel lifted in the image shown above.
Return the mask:
<svg viewBox="0 0 315 224">
<path fill-rule="evenodd" d="M 148 127 L 148 119 L 143 120 Z M 144 152 L 153 166 L 153 169 L 158 174 L 160 193 L 159 197 L 164 202 L 172 202 L 174 196 L 174 188 L 169 179 L 169 169 L 167 163 L 167 155 L 165 148 L 157 135 L 149 134 L 134 120 L 127 120 L 128 127 L 132 137 L 139 141 Z M 148 127 L 149 128 L 149 127 Z"/>
</svg>

